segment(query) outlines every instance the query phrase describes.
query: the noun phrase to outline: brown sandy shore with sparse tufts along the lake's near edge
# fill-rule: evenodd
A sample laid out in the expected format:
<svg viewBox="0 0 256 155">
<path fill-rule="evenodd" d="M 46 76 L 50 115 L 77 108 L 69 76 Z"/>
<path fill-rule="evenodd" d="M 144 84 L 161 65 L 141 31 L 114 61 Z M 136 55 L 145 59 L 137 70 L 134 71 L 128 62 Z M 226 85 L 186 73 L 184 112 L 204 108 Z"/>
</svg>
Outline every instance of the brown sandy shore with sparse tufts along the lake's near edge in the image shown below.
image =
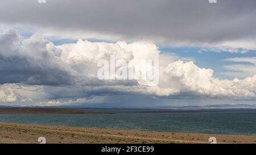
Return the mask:
<svg viewBox="0 0 256 155">
<path fill-rule="evenodd" d="M 0 123 L 0 143 L 256 143 L 256 136 L 210 135 L 195 133 L 147 132 L 119 129 L 93 129 Z"/>
</svg>

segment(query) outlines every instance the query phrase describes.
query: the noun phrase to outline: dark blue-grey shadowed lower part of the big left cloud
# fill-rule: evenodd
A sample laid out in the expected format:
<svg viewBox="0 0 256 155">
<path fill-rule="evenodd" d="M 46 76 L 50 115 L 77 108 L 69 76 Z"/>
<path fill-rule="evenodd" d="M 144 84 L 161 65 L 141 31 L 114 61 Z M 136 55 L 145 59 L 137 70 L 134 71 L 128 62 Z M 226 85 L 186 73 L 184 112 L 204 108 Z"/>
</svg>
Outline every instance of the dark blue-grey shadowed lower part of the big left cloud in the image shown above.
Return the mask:
<svg viewBox="0 0 256 155">
<path fill-rule="evenodd" d="M 69 85 L 71 75 L 67 70 L 39 66 L 27 57 L 0 55 L 0 84 L 25 83 L 28 85 Z"/>
</svg>

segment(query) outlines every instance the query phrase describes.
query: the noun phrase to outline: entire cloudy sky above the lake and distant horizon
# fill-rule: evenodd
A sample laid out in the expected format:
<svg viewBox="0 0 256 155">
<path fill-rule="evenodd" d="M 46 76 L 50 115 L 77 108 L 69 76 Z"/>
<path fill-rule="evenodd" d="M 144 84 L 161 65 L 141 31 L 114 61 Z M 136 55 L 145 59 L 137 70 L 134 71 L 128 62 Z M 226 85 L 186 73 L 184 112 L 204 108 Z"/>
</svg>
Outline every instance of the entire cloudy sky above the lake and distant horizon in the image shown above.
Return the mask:
<svg viewBox="0 0 256 155">
<path fill-rule="evenodd" d="M 254 0 L 1 0 L 0 105 L 256 104 L 255 7 Z M 157 85 L 99 79 L 98 62 L 113 55 L 134 68 L 158 60 Z"/>
</svg>

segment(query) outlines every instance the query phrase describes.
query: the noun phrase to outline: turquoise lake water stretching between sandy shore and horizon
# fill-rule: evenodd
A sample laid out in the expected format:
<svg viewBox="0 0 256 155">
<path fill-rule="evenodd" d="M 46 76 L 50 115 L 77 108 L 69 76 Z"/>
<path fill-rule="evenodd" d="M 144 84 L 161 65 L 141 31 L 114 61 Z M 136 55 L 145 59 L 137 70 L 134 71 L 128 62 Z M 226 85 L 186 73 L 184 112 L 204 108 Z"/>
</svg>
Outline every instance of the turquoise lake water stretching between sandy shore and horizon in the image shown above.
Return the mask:
<svg viewBox="0 0 256 155">
<path fill-rule="evenodd" d="M 0 115 L 0 122 L 142 131 L 256 135 L 256 112 Z"/>
</svg>

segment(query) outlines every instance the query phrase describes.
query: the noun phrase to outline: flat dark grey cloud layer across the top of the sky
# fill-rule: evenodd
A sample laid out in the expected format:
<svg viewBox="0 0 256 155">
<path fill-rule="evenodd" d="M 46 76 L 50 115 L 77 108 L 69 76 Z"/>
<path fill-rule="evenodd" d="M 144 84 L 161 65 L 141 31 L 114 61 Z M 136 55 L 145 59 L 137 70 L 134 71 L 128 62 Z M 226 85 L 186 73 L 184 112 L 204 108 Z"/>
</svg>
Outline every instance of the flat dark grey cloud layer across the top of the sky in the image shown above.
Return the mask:
<svg viewBox="0 0 256 155">
<path fill-rule="evenodd" d="M 0 22 L 102 32 L 121 39 L 212 43 L 255 37 L 255 7 L 255 0 L 6 0 L 1 1 Z"/>
</svg>

